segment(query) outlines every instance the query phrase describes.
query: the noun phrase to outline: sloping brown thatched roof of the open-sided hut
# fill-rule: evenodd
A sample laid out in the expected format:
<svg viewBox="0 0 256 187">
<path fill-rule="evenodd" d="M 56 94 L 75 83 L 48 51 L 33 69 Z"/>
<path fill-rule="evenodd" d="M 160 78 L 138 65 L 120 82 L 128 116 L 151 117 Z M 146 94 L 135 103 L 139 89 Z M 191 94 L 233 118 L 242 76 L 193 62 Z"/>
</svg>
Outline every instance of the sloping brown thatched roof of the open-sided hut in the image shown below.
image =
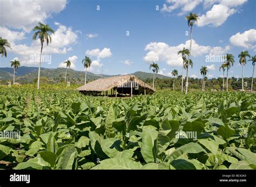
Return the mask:
<svg viewBox="0 0 256 187">
<path fill-rule="evenodd" d="M 99 78 L 98 80 L 92 81 L 79 87 L 79 91 L 107 91 L 114 87 L 122 87 L 127 81 L 134 81 L 139 84 L 139 87 L 154 90 L 150 85 L 144 83 L 142 80 L 139 80 L 134 75 L 120 75 L 114 77 L 107 77 L 107 78 Z"/>
</svg>

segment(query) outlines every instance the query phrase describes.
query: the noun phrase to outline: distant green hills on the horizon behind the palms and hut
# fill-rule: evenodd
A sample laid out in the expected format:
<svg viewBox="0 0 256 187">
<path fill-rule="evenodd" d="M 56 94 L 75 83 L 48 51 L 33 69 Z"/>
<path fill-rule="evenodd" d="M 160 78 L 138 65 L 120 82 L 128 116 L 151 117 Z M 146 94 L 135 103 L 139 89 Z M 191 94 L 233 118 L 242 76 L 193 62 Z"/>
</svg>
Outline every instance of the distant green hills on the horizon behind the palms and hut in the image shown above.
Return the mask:
<svg viewBox="0 0 256 187">
<path fill-rule="evenodd" d="M 66 68 L 41 68 L 41 76 L 48 77 L 50 80 L 54 82 L 58 82 L 63 80 L 65 77 Z M 14 73 L 13 68 L 0 68 L 0 80 L 2 81 L 10 81 L 12 80 Z M 32 83 L 35 78 L 37 78 L 38 68 L 37 67 L 26 67 L 21 66 L 18 68 L 16 73 L 16 82 L 24 82 L 24 83 Z M 83 82 L 85 73 L 84 71 L 76 71 L 73 69 L 68 69 L 68 80 L 72 82 Z M 145 73 L 142 71 L 136 71 L 133 73 L 134 76 L 140 78 L 141 80 L 145 80 L 146 78 L 153 78 L 152 73 Z M 114 75 L 104 75 L 104 74 L 93 74 L 91 72 L 87 72 L 87 80 L 92 81 L 102 77 L 110 77 Z M 156 78 L 169 78 L 164 75 L 155 75 Z"/>
</svg>

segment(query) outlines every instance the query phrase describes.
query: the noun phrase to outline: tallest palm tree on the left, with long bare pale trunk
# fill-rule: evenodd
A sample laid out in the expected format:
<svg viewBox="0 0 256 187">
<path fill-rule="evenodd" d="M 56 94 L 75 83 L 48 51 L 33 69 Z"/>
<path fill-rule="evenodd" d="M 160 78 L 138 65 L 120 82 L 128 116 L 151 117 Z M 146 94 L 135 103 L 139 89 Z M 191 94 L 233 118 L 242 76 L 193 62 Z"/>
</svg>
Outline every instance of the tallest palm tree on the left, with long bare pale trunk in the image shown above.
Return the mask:
<svg viewBox="0 0 256 187">
<path fill-rule="evenodd" d="M 52 28 L 49 25 L 42 24 L 41 22 L 39 22 L 38 25 L 33 28 L 33 31 L 36 31 L 36 32 L 33 35 L 32 39 L 36 40 L 37 36 L 38 36 L 38 38 L 41 42 L 41 52 L 40 52 L 40 61 L 39 61 L 38 78 L 37 78 L 37 89 L 39 90 L 40 69 L 41 69 L 41 60 L 42 60 L 42 51 L 43 51 L 44 41 L 46 41 L 47 45 L 49 44 L 49 42 L 51 43 L 51 36 L 49 33 L 54 34 L 54 31 L 52 30 Z"/>
</svg>

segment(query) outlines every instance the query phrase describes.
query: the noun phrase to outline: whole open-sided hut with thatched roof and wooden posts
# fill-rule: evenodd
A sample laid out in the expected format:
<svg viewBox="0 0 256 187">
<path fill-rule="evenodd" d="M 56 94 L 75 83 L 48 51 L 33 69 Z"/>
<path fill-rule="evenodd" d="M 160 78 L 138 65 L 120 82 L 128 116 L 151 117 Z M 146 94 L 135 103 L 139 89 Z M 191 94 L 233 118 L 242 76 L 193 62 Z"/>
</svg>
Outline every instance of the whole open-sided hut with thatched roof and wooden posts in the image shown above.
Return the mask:
<svg viewBox="0 0 256 187">
<path fill-rule="evenodd" d="M 124 96 L 152 94 L 154 90 L 150 85 L 139 80 L 134 75 L 120 75 L 107 78 L 99 78 L 79 87 L 78 90 L 91 95 L 115 95 Z"/>
</svg>

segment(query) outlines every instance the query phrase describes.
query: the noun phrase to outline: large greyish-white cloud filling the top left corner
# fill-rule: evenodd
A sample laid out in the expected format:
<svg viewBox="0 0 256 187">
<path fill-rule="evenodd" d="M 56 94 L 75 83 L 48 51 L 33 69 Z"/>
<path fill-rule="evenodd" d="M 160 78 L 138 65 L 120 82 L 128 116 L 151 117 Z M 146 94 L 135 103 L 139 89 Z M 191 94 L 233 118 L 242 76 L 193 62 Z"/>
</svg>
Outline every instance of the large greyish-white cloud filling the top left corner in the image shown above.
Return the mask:
<svg viewBox="0 0 256 187">
<path fill-rule="evenodd" d="M 59 13 L 64 10 L 66 3 L 66 0 L 1 1 L 0 26 L 9 26 L 30 32 L 38 22 L 44 23 L 53 13 Z"/>
</svg>

